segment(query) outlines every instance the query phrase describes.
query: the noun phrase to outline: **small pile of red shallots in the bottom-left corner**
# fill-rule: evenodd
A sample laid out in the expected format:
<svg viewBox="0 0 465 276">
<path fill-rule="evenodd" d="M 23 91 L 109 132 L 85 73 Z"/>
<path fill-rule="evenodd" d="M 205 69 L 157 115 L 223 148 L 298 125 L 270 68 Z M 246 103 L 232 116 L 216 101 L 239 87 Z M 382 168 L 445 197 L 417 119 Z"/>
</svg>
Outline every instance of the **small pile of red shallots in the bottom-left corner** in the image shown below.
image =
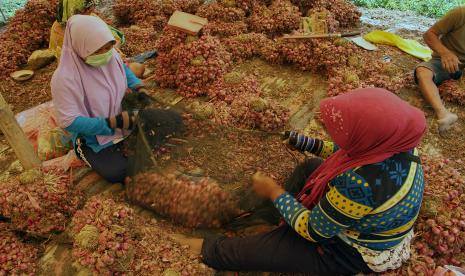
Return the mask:
<svg viewBox="0 0 465 276">
<path fill-rule="evenodd" d="M 0 222 L 0 275 L 37 275 L 38 253 Z"/>
</svg>

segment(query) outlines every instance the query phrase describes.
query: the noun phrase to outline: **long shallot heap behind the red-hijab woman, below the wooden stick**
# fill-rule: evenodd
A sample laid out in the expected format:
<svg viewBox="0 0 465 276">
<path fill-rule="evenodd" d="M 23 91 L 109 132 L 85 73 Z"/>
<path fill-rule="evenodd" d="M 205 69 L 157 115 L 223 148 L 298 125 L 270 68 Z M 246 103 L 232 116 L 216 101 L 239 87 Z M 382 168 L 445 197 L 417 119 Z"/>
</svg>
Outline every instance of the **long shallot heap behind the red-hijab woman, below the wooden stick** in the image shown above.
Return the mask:
<svg viewBox="0 0 465 276">
<path fill-rule="evenodd" d="M 328 77 L 328 96 L 355 88 L 380 87 L 398 92 L 408 80 L 393 63 L 366 53 L 345 39 L 278 41 L 262 48 L 262 57 L 271 63 L 291 63 L 300 70 Z"/>
</svg>

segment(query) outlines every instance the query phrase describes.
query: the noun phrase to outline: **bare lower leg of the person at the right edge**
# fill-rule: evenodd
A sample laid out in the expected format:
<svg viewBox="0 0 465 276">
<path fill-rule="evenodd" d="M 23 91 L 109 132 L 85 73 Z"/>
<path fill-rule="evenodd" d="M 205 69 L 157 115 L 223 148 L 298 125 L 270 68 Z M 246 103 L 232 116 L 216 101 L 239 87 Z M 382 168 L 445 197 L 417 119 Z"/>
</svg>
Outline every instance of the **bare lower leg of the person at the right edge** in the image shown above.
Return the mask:
<svg viewBox="0 0 465 276">
<path fill-rule="evenodd" d="M 456 73 L 456 75 L 458 76 L 460 74 Z M 430 62 L 422 63 L 415 69 L 415 79 L 420 87 L 421 93 L 426 101 L 431 104 L 436 113 L 440 133 L 449 130 L 458 119 L 456 114 L 450 112 L 444 106 L 438 89 L 438 85 L 452 78 L 453 75 L 442 68 L 439 59 L 433 59 Z"/>
</svg>

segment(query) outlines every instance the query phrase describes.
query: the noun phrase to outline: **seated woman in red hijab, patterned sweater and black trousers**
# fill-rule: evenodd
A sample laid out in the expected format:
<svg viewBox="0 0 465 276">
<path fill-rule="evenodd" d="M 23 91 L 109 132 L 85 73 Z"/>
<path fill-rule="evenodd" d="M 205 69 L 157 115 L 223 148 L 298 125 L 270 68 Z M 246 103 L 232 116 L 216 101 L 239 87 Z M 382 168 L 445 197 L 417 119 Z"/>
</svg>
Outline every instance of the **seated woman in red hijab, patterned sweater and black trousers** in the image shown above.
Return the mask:
<svg viewBox="0 0 465 276">
<path fill-rule="evenodd" d="M 407 261 L 423 196 L 415 147 L 424 113 L 377 88 L 325 99 L 320 112 L 333 142 L 290 133 L 295 149 L 319 158 L 296 168 L 287 191 L 260 173 L 253 177 L 255 192 L 285 224 L 245 238 L 179 240 L 218 270 L 347 275 Z"/>
</svg>

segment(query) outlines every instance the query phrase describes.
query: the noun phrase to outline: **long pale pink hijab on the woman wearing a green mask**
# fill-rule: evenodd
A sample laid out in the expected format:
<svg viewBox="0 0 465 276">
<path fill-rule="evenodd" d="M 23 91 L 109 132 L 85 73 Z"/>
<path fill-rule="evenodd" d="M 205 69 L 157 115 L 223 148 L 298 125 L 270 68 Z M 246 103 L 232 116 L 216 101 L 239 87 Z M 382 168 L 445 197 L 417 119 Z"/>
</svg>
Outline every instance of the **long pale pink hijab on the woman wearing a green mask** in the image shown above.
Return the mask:
<svg viewBox="0 0 465 276">
<path fill-rule="evenodd" d="M 121 113 L 121 101 L 127 88 L 123 61 L 113 50 L 107 65 L 95 68 L 84 59 L 114 40 L 100 18 L 72 16 L 67 25 L 60 64 L 52 78 L 52 97 L 58 124 L 70 126 L 78 116 L 107 118 Z M 100 145 L 123 137 L 121 130 L 113 136 L 97 136 Z"/>
</svg>

